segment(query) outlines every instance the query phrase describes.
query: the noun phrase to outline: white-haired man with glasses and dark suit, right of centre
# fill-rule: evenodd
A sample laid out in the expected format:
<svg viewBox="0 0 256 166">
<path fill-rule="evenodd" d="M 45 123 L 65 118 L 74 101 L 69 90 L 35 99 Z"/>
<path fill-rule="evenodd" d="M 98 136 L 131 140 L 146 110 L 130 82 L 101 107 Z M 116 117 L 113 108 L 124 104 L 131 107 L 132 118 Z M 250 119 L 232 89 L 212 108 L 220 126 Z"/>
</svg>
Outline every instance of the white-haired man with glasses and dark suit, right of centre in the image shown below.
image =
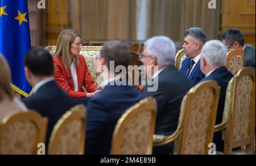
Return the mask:
<svg viewBox="0 0 256 166">
<path fill-rule="evenodd" d="M 156 36 L 144 44 L 141 61 L 151 76 L 142 90 L 143 97 L 152 96 L 158 104 L 155 134 L 171 135 L 177 128 L 183 97 L 194 85 L 174 67 L 175 44 L 170 38 Z M 173 143 L 153 148 L 154 154 L 170 154 Z"/>
</svg>

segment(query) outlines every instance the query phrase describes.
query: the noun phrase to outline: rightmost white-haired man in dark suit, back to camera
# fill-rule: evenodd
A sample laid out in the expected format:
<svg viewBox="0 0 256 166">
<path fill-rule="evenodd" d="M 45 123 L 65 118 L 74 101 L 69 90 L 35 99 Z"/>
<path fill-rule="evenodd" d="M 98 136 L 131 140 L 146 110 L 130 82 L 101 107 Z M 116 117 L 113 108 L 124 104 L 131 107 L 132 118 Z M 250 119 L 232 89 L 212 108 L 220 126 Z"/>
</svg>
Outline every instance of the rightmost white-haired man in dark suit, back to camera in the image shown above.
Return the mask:
<svg viewBox="0 0 256 166">
<path fill-rule="evenodd" d="M 220 99 L 218 101 L 218 110 L 216 115 L 216 124 L 222 122 L 222 115 L 224 111 L 226 88 L 233 74 L 230 73 L 226 67 L 226 49 L 225 45 L 219 40 L 211 40 L 204 44 L 201 56 L 201 71 L 205 74 L 202 81 L 214 80 L 218 82 L 221 88 Z M 217 151 L 224 150 L 224 141 L 221 139 L 221 131 L 215 132 L 213 142 L 216 144 Z"/>
</svg>

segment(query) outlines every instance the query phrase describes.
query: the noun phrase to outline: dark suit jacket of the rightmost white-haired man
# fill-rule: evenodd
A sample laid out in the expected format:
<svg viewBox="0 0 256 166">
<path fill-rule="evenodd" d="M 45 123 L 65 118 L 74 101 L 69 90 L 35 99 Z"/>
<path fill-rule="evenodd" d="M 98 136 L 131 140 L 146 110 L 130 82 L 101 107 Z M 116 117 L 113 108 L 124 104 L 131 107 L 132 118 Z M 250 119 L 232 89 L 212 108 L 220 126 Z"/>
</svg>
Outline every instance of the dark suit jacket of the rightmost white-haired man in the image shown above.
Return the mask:
<svg viewBox="0 0 256 166">
<path fill-rule="evenodd" d="M 218 82 L 218 86 L 221 87 L 220 99 L 218 101 L 218 110 L 216 115 L 216 124 L 222 122 L 222 116 L 225 106 L 226 88 L 228 87 L 229 81 L 232 79 L 233 74 L 230 73 L 226 67 L 221 67 L 212 72 L 208 77 L 203 78 L 202 81 L 214 80 Z M 224 150 L 224 141 L 221 139 L 221 131 L 214 132 L 213 142 L 216 143 L 217 151 Z"/>
</svg>

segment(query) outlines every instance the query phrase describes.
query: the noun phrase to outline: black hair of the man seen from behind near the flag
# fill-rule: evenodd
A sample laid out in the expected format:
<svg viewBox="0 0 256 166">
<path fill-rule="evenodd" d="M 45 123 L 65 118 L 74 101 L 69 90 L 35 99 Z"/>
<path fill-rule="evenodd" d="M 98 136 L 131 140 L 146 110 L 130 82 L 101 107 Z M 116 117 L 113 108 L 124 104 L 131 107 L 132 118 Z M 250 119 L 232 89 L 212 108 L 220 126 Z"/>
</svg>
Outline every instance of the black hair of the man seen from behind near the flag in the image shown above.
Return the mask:
<svg viewBox="0 0 256 166">
<path fill-rule="evenodd" d="M 35 76 L 52 76 L 54 72 L 52 56 L 43 47 L 31 48 L 26 53 L 25 66 Z"/>
</svg>

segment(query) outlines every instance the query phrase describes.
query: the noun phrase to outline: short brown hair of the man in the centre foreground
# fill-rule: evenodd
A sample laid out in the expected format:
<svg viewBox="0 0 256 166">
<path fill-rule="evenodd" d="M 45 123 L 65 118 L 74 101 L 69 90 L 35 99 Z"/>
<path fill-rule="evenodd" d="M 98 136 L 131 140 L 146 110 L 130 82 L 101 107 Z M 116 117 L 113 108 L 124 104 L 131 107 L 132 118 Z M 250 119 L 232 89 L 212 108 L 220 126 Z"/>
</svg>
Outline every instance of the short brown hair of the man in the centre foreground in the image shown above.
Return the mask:
<svg viewBox="0 0 256 166">
<path fill-rule="evenodd" d="M 105 60 L 108 69 L 110 69 L 110 61 L 114 61 L 114 68 L 118 65 L 127 68 L 131 60 L 129 48 L 119 40 L 106 42 L 101 49 L 101 57 Z"/>
</svg>

